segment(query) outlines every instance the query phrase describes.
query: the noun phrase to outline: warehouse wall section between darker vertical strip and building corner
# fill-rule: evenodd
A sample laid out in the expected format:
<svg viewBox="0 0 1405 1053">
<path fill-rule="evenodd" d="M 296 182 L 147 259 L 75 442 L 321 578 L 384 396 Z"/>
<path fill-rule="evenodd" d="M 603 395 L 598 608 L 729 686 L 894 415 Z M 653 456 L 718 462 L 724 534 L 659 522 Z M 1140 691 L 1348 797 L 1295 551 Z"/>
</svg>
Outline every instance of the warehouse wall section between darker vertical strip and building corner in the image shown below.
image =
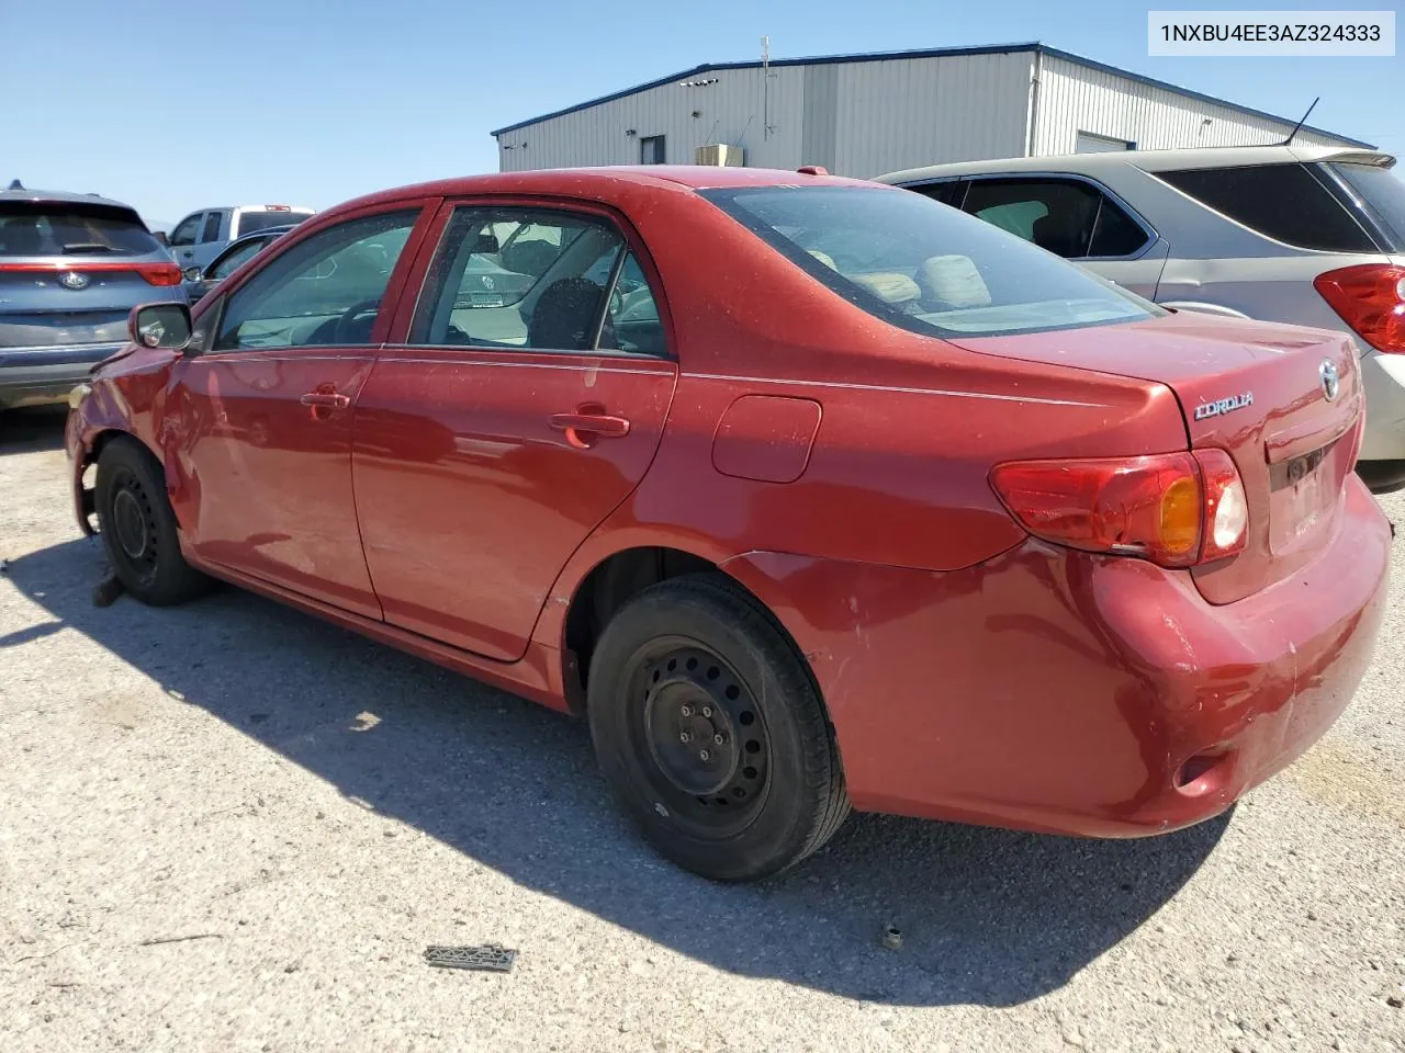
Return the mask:
<svg viewBox="0 0 1405 1053">
<path fill-rule="evenodd" d="M 839 66 L 836 171 L 1021 157 L 1030 52 Z"/>
</svg>

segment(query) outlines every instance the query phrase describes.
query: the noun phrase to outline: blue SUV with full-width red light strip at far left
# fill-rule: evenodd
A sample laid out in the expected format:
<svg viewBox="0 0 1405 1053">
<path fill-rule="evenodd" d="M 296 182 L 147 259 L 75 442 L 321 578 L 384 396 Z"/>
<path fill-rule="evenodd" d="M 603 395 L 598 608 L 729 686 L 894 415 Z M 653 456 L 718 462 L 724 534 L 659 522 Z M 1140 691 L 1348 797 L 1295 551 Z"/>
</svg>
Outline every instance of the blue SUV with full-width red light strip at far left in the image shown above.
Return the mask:
<svg viewBox="0 0 1405 1053">
<path fill-rule="evenodd" d="M 132 307 L 180 296 L 180 270 L 129 205 L 0 190 L 0 410 L 63 402 L 122 348 Z"/>
</svg>

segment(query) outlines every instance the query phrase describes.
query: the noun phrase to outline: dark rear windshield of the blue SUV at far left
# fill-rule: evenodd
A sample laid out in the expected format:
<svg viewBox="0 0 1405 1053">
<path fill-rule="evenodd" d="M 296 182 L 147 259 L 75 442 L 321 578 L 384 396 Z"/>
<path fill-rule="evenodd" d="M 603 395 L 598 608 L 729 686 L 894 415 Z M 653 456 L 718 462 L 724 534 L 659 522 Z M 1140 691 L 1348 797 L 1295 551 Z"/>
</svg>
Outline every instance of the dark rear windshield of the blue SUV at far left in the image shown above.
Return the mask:
<svg viewBox="0 0 1405 1053">
<path fill-rule="evenodd" d="M 111 205 L 0 202 L 0 257 L 163 251 L 135 212 Z"/>
</svg>

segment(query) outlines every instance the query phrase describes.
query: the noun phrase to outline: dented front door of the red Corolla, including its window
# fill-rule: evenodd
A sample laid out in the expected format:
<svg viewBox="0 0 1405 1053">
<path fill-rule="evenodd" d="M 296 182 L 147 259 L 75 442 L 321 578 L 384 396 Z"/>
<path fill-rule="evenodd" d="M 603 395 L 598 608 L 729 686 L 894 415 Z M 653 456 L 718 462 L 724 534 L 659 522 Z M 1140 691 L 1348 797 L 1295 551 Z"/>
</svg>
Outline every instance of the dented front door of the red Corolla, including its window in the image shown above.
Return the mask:
<svg viewBox="0 0 1405 1053">
<path fill-rule="evenodd" d="M 419 215 L 330 226 L 201 312 L 208 350 L 177 366 L 170 414 L 185 432 L 173 437 L 174 482 L 201 559 L 381 616 L 355 525 L 351 423 Z"/>
</svg>

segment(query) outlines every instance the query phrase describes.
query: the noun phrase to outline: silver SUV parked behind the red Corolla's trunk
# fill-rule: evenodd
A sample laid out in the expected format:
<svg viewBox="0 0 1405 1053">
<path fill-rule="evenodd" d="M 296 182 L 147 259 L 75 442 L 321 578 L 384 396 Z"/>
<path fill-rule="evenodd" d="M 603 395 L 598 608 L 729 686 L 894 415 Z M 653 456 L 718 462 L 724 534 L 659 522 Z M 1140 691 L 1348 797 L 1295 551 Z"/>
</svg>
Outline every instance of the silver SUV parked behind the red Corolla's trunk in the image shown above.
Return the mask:
<svg viewBox="0 0 1405 1053">
<path fill-rule="evenodd" d="M 1405 487 L 1405 184 L 1387 153 L 1128 150 L 882 176 L 1170 307 L 1350 333 L 1360 475 Z"/>
</svg>

